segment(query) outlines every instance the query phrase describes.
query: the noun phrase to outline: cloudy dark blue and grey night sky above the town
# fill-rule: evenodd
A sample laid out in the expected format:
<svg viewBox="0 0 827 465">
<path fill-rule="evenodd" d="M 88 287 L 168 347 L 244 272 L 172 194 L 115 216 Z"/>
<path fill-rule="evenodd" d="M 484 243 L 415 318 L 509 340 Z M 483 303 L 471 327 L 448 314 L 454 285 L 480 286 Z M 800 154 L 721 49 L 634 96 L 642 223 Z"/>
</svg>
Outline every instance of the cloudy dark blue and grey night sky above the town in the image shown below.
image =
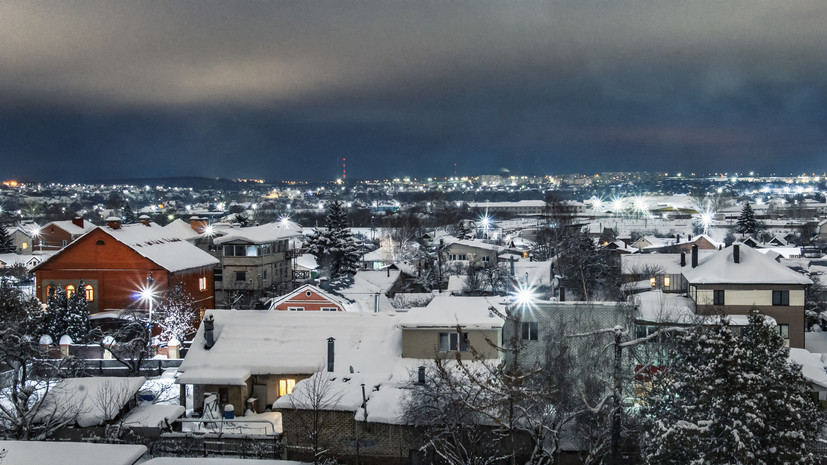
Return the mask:
<svg viewBox="0 0 827 465">
<path fill-rule="evenodd" d="M 827 171 L 827 2 L 0 2 L 0 177 Z"/>
</svg>

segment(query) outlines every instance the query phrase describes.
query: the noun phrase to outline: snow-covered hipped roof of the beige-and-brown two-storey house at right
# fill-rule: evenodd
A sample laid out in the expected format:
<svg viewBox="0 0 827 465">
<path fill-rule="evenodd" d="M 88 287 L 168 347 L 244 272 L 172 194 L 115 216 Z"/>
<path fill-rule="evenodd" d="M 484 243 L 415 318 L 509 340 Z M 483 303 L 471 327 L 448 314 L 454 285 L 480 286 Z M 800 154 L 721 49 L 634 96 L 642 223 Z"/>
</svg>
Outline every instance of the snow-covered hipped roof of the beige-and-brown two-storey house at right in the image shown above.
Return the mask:
<svg viewBox="0 0 827 465">
<path fill-rule="evenodd" d="M 813 282 L 775 260 L 741 244 L 739 263 L 733 259 L 733 247 L 716 251 L 696 268 L 683 271 L 691 284 L 800 284 Z"/>
</svg>

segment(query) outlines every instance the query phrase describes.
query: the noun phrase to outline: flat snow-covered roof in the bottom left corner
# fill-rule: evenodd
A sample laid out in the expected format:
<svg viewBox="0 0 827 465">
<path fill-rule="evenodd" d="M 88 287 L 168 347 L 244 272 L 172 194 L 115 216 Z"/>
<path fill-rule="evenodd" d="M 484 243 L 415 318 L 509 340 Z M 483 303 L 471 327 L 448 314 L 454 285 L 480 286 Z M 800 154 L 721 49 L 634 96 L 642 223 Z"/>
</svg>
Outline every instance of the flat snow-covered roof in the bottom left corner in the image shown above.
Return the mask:
<svg viewBox="0 0 827 465">
<path fill-rule="evenodd" d="M 65 441 L 0 441 L 0 448 L 6 450 L 3 463 L 14 465 L 134 465 L 147 451 L 133 444 Z"/>
</svg>

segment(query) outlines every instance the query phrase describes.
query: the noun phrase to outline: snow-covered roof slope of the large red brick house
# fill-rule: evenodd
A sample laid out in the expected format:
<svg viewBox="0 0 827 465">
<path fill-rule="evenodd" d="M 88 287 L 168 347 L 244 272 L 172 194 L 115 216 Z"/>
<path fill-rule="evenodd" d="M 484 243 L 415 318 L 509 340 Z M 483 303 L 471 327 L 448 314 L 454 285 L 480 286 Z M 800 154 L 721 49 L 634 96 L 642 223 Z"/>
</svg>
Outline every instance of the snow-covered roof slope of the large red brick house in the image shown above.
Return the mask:
<svg viewBox="0 0 827 465">
<path fill-rule="evenodd" d="M 101 226 L 101 231 L 152 260 L 168 271 L 182 271 L 219 264 L 219 260 L 187 241 L 171 236 L 155 223 L 121 225 L 118 229 Z"/>
</svg>

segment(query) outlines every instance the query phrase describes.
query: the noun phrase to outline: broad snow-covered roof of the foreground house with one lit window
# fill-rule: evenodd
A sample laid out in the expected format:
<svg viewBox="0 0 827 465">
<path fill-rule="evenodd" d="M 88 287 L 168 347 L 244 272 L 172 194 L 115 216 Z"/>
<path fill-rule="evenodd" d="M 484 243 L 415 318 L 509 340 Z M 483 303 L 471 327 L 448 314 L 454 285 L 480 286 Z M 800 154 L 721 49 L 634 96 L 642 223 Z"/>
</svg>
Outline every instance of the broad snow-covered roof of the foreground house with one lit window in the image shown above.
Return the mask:
<svg viewBox="0 0 827 465">
<path fill-rule="evenodd" d="M 202 324 L 178 370 L 184 384 L 241 385 L 253 374 L 314 373 L 326 366 L 335 338 L 336 373 L 385 370 L 401 357 L 399 318 L 389 313 L 209 310 L 215 345 L 204 348 Z"/>
</svg>

